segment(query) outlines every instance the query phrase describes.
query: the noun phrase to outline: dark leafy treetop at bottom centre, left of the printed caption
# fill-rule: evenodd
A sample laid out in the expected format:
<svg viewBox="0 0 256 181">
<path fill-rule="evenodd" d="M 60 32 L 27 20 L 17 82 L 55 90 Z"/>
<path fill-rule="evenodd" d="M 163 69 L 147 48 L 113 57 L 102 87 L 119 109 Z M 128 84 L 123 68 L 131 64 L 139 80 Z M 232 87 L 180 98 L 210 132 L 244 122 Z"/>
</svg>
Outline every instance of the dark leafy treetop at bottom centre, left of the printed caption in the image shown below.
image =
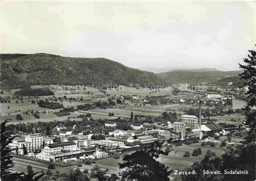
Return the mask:
<svg viewBox="0 0 256 181">
<path fill-rule="evenodd" d="M 139 150 L 123 157 L 119 164 L 122 181 L 169 181 L 171 170 L 156 159 L 160 154 L 168 155 L 161 150 L 162 143 L 155 142 L 148 149 Z"/>
</svg>

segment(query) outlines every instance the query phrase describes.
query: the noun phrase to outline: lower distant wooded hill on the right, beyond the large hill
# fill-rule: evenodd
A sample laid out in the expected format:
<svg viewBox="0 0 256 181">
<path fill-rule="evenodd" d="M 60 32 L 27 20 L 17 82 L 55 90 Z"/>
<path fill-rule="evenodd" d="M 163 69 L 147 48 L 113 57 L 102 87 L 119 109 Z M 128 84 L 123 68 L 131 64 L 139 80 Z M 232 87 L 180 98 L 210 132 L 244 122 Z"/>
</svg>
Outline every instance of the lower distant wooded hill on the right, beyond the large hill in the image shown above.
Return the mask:
<svg viewBox="0 0 256 181">
<path fill-rule="evenodd" d="M 157 74 L 168 84 L 173 83 L 218 83 L 229 76 L 238 76 L 240 71 L 171 71 Z"/>
</svg>

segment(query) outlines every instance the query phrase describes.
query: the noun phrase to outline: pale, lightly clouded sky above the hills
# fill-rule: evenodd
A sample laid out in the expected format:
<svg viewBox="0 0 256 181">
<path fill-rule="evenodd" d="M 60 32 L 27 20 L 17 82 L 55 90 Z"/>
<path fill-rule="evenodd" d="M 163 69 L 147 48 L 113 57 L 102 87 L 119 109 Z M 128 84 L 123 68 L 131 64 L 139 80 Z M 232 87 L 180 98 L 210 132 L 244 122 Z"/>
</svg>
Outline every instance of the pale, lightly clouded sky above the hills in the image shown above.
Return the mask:
<svg viewBox="0 0 256 181">
<path fill-rule="evenodd" d="M 1 1 L 0 30 L 3 54 L 239 70 L 255 49 L 255 2 Z"/>
</svg>

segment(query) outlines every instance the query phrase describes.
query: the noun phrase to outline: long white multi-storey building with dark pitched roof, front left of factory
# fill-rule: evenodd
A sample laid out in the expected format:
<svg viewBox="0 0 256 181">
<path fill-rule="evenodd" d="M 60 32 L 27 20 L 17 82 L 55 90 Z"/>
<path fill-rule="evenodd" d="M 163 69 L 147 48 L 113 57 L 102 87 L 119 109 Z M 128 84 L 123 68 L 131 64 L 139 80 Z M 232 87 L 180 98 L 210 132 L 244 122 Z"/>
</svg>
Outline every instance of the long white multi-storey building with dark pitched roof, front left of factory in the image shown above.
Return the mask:
<svg viewBox="0 0 256 181">
<path fill-rule="evenodd" d="M 44 153 L 44 160 L 57 161 L 75 158 L 80 150 L 75 142 L 69 141 L 46 145 L 42 152 Z"/>
</svg>

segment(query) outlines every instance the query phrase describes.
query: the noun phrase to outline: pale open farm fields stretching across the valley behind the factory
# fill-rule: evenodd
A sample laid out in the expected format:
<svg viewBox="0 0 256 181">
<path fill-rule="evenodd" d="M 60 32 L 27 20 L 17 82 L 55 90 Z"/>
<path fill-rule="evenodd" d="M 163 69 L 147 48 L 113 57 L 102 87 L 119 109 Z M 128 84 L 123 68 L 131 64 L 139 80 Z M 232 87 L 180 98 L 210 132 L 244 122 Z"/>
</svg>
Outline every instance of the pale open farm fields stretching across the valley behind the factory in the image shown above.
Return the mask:
<svg viewBox="0 0 256 181">
<path fill-rule="evenodd" d="M 144 86 L 144 85 L 143 85 Z M 186 84 L 182 84 L 180 86 L 187 86 Z M 50 87 L 50 86 L 31 86 L 32 88 L 39 88 L 39 87 Z M 125 87 L 125 86 L 120 86 L 121 88 L 118 90 L 107 90 L 106 93 L 104 94 L 102 91 L 99 90 L 82 90 L 82 91 L 76 91 L 75 86 L 72 86 L 71 88 L 69 87 L 69 90 L 58 90 L 55 91 L 55 97 L 63 97 L 66 96 L 67 100 L 63 100 L 63 102 L 60 102 L 59 99 L 57 102 L 63 103 L 64 107 L 68 106 L 77 106 L 77 105 L 83 105 L 85 103 L 94 103 L 98 101 L 102 102 L 107 102 L 108 98 L 111 97 L 119 97 L 120 95 L 138 95 L 138 99 L 144 100 L 147 96 L 159 96 L 159 95 L 169 95 L 169 98 L 175 99 L 177 98 L 178 100 L 181 98 L 199 98 L 202 95 L 197 94 L 196 91 L 194 90 L 187 90 L 188 92 L 184 93 L 178 93 L 178 95 L 172 94 L 172 92 L 166 88 L 163 88 L 161 90 L 148 90 L 146 88 L 140 87 L 139 89 L 136 89 L 134 87 Z M 17 89 L 18 90 L 18 89 Z M 38 100 L 38 99 L 54 99 L 53 96 L 41 96 L 38 98 L 35 97 L 24 97 L 23 103 L 18 100 L 13 98 L 12 96 L 14 95 L 14 92 L 16 90 L 11 90 L 11 92 L 4 91 L 4 94 L 1 96 L 3 98 L 8 98 L 10 100 L 10 103 L 2 103 L 0 107 L 0 121 L 3 121 L 4 119 L 11 118 L 12 120 L 10 123 L 19 123 L 20 121 L 17 120 L 16 114 L 22 114 L 22 112 L 28 111 L 28 110 L 34 110 L 34 111 L 46 111 L 46 114 L 39 114 L 40 118 L 35 118 L 33 115 L 24 115 L 22 114 L 23 120 L 21 122 L 27 123 L 27 122 L 36 122 L 36 121 L 42 121 L 42 122 L 48 122 L 48 121 L 63 121 L 67 119 L 68 117 L 73 117 L 75 120 L 80 120 L 80 118 L 74 118 L 77 117 L 79 114 L 87 114 L 90 113 L 92 118 L 94 119 L 114 119 L 117 117 L 121 118 L 129 118 L 131 111 L 133 111 L 133 114 L 141 114 L 141 115 L 151 115 L 151 116 L 158 116 L 162 114 L 164 111 L 176 111 L 177 114 L 184 114 L 181 109 L 190 109 L 194 108 L 196 109 L 198 106 L 193 106 L 193 105 L 187 105 L 187 104 L 172 104 L 172 105 L 148 105 L 146 104 L 145 106 L 143 105 L 135 105 L 135 101 L 133 103 L 131 101 L 125 100 L 125 103 L 128 105 L 116 105 L 113 107 L 113 109 L 94 109 L 94 110 L 88 110 L 88 111 L 75 111 L 74 113 L 71 113 L 69 116 L 63 116 L 63 117 L 57 117 L 55 114 L 53 114 L 55 111 L 59 111 L 60 109 L 46 109 L 39 107 L 37 104 L 32 104 L 31 100 Z M 88 94 L 88 91 L 90 94 Z M 154 92 L 153 92 L 154 91 Z M 107 96 L 108 95 L 108 96 Z M 83 101 L 80 101 L 80 98 L 83 98 Z M 76 101 L 69 101 L 69 98 L 76 98 Z M 18 103 L 15 103 L 18 100 Z M 235 100 L 235 99 L 234 99 Z M 113 100 L 116 101 L 116 100 Z M 237 101 L 237 100 L 236 100 Z M 241 105 L 241 101 L 237 101 L 239 105 Z M 244 102 L 242 102 L 244 103 Z M 9 106 L 9 108 L 8 108 Z M 203 109 L 207 108 L 214 108 L 214 107 L 208 107 L 208 106 L 202 106 Z M 114 113 L 114 116 L 109 117 L 109 113 Z M 216 116 L 212 117 L 214 119 L 218 119 L 220 122 L 227 122 L 227 123 L 233 123 L 230 121 L 231 118 L 236 119 L 236 123 L 240 123 L 241 121 L 244 120 L 242 115 L 225 115 L 225 116 Z M 238 119 L 240 118 L 240 121 Z"/>
</svg>

